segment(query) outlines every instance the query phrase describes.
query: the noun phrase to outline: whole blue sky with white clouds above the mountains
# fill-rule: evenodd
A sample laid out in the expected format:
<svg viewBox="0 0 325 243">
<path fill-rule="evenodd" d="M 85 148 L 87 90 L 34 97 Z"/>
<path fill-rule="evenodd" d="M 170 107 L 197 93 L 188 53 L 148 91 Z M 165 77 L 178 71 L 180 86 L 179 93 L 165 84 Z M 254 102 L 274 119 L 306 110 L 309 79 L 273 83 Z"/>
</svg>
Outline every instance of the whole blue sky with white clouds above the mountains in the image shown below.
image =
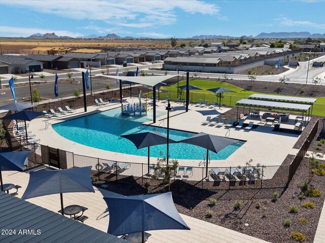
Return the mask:
<svg viewBox="0 0 325 243">
<path fill-rule="evenodd" d="M 201 34 L 325 33 L 324 1 L 1 0 L 0 36 L 182 38 Z"/>
</svg>

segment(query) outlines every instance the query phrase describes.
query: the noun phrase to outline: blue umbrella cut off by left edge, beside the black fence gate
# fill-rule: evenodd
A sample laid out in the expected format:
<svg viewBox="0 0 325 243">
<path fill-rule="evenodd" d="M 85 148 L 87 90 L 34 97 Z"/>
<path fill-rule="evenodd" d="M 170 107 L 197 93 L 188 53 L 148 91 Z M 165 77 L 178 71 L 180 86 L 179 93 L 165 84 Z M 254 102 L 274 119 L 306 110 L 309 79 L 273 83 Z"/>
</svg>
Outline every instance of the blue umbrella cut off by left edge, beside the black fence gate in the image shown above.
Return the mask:
<svg viewBox="0 0 325 243">
<path fill-rule="evenodd" d="M 0 182 L 4 190 L 2 171 L 24 171 L 24 163 L 32 150 L 0 153 Z"/>
</svg>

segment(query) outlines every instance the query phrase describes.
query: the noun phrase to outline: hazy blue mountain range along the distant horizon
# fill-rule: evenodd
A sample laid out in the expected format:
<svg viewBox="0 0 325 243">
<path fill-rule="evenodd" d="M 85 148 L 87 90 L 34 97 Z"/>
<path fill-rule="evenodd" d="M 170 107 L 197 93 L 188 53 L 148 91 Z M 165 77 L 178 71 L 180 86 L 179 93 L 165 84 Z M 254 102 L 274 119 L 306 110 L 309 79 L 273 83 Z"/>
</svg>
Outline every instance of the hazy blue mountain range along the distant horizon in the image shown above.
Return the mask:
<svg viewBox="0 0 325 243">
<path fill-rule="evenodd" d="M 272 33 L 260 33 L 256 36 L 243 36 L 244 38 L 256 38 L 256 39 L 267 39 L 267 38 L 325 38 L 325 33 L 320 34 L 320 33 L 315 33 L 311 34 L 310 32 L 272 32 Z M 46 34 L 41 34 L 41 33 L 36 33 L 32 34 L 27 38 L 34 38 L 34 39 L 73 39 L 73 37 L 70 36 L 57 36 L 55 33 L 46 33 Z M 107 34 L 105 36 L 99 36 L 96 34 L 91 34 L 88 36 L 78 36 L 76 38 L 98 38 L 98 39 L 154 39 L 154 38 L 149 38 L 149 37 L 132 37 L 132 36 L 126 36 L 126 37 L 121 37 L 118 36 L 117 34 Z M 193 37 L 189 37 L 191 39 L 234 39 L 234 38 L 239 38 L 239 36 L 229 36 L 229 35 L 194 35 Z M 182 38 L 180 38 L 182 39 Z M 186 39 L 186 38 L 184 38 Z"/>
</svg>

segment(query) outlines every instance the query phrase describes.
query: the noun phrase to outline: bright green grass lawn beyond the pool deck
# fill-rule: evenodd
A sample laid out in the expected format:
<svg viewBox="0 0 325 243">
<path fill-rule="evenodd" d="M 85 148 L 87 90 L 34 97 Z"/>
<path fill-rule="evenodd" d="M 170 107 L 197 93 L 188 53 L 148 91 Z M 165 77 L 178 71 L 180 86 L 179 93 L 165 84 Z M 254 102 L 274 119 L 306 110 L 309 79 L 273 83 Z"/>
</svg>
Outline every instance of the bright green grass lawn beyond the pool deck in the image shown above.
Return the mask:
<svg viewBox="0 0 325 243">
<path fill-rule="evenodd" d="M 215 94 L 213 94 L 210 91 L 207 91 L 208 89 L 223 87 L 232 91 L 235 91 L 236 93 L 223 93 L 223 98 L 221 99 L 221 104 L 225 104 L 226 106 L 235 106 L 236 102 L 241 99 L 247 99 L 248 96 L 252 94 L 257 94 L 256 92 L 247 91 L 244 89 L 241 89 L 237 86 L 227 84 L 224 82 L 215 82 L 215 81 L 209 81 L 209 80 L 197 80 L 193 79 L 189 82 L 190 85 L 196 86 L 202 90 L 190 90 L 189 91 L 189 98 L 191 99 L 191 102 L 197 103 L 201 99 L 203 102 L 205 100 L 208 101 L 209 104 L 211 104 L 213 101 L 216 101 L 219 103 L 219 97 L 217 97 Z M 186 85 L 186 81 L 183 80 L 179 82 L 179 86 Z M 176 100 L 177 98 L 177 84 L 171 86 L 171 87 L 161 87 L 161 90 L 167 91 L 168 93 L 160 93 L 160 99 L 165 99 L 166 96 L 169 96 L 171 100 Z M 263 94 L 263 93 L 259 93 Z M 150 94 L 152 95 L 152 93 Z M 277 94 L 273 94 L 277 95 Z M 186 92 L 183 92 L 183 95 L 179 97 L 182 99 L 185 99 Z M 325 97 L 319 97 L 317 98 L 317 101 L 315 102 L 313 106 L 313 115 L 319 115 L 319 116 L 325 116 Z"/>
</svg>

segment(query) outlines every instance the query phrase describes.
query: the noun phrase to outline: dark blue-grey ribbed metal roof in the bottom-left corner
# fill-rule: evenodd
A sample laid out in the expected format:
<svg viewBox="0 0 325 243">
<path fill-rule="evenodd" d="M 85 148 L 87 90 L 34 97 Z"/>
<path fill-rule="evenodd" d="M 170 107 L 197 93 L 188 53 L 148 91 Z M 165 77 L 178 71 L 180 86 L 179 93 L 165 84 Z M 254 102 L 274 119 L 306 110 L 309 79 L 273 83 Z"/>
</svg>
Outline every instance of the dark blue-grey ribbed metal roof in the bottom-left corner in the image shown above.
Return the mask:
<svg viewBox="0 0 325 243">
<path fill-rule="evenodd" d="M 0 222 L 15 234 L 0 235 L 6 242 L 125 242 L 114 235 L 82 224 L 76 220 L 36 206 L 16 196 L 0 192 Z M 19 233 L 28 229 L 29 234 Z M 37 232 L 40 233 L 38 234 Z"/>
</svg>

